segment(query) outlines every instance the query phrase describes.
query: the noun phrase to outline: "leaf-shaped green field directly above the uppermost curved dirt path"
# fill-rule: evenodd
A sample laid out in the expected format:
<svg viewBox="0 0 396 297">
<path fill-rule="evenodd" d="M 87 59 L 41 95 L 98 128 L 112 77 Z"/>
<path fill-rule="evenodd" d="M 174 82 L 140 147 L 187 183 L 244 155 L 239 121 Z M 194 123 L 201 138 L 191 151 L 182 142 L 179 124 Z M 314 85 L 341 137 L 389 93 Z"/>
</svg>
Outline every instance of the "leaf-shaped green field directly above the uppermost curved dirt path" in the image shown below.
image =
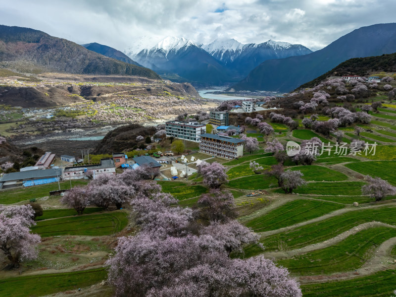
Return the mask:
<svg viewBox="0 0 396 297">
<path fill-rule="evenodd" d="M 254 218 L 245 223 L 245 225 L 252 228 L 255 232 L 276 230 L 320 217 L 341 208 L 344 208 L 344 205 L 325 201 L 297 199 L 263 216 Z"/>
</svg>

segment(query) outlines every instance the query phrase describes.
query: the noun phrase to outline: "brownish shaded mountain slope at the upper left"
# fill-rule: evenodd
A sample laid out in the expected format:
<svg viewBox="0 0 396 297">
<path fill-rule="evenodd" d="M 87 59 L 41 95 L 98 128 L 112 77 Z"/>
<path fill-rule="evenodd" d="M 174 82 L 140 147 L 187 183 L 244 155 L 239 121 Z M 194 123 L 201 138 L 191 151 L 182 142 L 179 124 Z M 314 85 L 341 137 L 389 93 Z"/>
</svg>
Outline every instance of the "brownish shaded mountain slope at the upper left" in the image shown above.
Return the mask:
<svg viewBox="0 0 396 297">
<path fill-rule="evenodd" d="M 66 39 L 30 28 L 0 25 L 0 63 L 22 72 L 136 75 L 160 78 L 154 71 L 104 57 Z"/>
</svg>

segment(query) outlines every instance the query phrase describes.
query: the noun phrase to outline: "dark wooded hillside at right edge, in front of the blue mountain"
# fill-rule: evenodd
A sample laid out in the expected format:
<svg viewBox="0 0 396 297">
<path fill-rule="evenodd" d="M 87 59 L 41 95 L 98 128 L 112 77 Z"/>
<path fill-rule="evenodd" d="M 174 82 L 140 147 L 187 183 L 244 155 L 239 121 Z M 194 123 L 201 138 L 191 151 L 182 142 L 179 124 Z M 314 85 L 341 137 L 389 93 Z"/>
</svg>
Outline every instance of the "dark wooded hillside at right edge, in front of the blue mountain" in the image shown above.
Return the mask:
<svg viewBox="0 0 396 297">
<path fill-rule="evenodd" d="M 396 72 L 396 53 L 367 58 L 353 58 L 342 62 L 337 67 L 331 69 L 325 74 L 311 80 L 299 88 L 311 88 L 329 76 L 344 75 L 370 75 L 373 72 Z"/>
</svg>

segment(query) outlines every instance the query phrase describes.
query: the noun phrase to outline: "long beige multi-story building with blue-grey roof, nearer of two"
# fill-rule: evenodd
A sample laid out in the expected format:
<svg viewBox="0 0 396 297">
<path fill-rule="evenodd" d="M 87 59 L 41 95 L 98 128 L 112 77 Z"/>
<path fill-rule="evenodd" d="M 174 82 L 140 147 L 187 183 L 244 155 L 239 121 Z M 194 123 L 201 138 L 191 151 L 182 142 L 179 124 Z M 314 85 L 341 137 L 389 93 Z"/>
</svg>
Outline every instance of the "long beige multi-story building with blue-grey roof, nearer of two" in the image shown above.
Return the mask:
<svg viewBox="0 0 396 297">
<path fill-rule="evenodd" d="M 215 134 L 202 134 L 199 151 L 212 156 L 235 159 L 244 155 L 245 140 Z"/>
</svg>

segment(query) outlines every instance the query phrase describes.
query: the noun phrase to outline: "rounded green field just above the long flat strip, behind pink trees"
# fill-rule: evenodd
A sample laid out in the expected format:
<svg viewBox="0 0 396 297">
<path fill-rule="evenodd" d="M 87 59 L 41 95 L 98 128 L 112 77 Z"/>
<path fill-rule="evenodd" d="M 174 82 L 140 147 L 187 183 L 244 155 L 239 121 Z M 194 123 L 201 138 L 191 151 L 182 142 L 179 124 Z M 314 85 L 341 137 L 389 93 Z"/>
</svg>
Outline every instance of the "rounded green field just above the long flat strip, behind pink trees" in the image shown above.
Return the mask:
<svg viewBox="0 0 396 297">
<path fill-rule="evenodd" d="M 317 165 L 295 166 L 292 167 L 291 170 L 299 170 L 304 175 L 303 178 L 305 180 L 340 181 L 348 179 L 348 177 L 341 172 Z"/>
</svg>

